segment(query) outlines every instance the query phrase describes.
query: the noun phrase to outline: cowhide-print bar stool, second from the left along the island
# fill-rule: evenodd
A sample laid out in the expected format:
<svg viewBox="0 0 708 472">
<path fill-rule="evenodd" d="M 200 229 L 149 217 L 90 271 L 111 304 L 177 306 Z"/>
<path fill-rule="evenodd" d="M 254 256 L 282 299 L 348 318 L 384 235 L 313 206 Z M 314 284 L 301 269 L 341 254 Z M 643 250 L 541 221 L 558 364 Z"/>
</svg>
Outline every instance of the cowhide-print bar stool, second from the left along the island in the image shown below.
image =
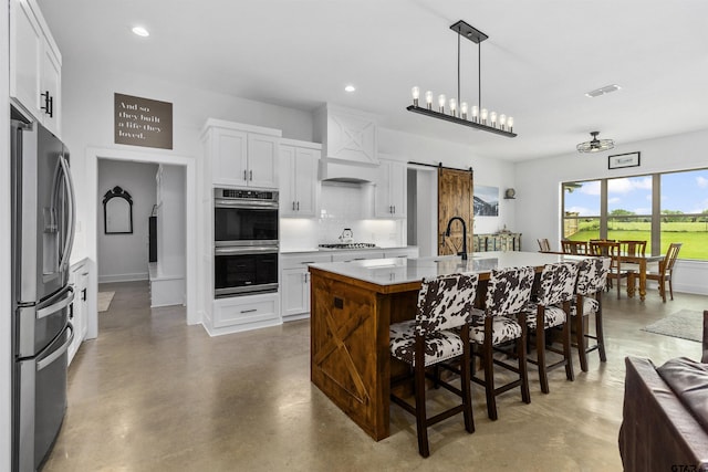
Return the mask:
<svg viewBox="0 0 708 472">
<path fill-rule="evenodd" d="M 525 313 L 523 308 L 531 300 L 533 287 L 533 268 L 512 268 L 492 270 L 487 293 L 485 308 L 473 310 L 470 327 L 472 356 L 481 358 L 485 379 L 480 379 L 472 370 L 472 381 L 485 387 L 487 396 L 487 415 L 496 420 L 497 396 L 516 387 L 521 389 L 523 402 L 531 402 L 529 394 L 529 375 L 525 358 Z M 517 315 L 519 318 L 517 319 Z M 494 352 L 501 345 L 516 344 L 513 355 L 518 364 L 511 365 L 494 358 Z M 504 354 L 507 354 L 504 352 Z M 517 374 L 517 378 L 506 385 L 494 386 L 494 365 Z"/>
</svg>

